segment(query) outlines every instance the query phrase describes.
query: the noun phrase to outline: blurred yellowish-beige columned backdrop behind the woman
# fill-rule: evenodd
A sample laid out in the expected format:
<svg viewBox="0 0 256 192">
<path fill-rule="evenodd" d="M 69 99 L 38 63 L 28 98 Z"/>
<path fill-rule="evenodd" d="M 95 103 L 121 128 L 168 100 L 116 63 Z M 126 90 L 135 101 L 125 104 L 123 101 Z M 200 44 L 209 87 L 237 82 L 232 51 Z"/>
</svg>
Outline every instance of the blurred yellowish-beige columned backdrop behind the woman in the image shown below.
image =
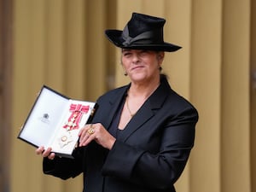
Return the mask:
<svg viewBox="0 0 256 192">
<path fill-rule="evenodd" d="M 43 84 L 96 101 L 128 83 L 104 30 L 132 12 L 166 18 L 163 72 L 199 110 L 179 192 L 256 192 L 256 2 L 0 0 L 0 192 L 82 191 L 82 177 L 45 176 L 17 139 Z M 154 173 L 152 173 L 154 174 Z"/>
</svg>

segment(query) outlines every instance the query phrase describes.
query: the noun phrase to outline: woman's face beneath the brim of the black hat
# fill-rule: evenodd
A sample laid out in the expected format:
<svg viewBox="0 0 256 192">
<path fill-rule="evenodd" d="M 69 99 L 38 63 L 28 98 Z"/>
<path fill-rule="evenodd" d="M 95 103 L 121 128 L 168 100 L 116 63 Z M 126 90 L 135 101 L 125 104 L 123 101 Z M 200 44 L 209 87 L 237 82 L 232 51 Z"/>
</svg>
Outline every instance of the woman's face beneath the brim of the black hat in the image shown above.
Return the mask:
<svg viewBox="0 0 256 192">
<path fill-rule="evenodd" d="M 159 78 L 163 51 L 122 49 L 122 64 L 133 82 L 151 81 Z"/>
</svg>

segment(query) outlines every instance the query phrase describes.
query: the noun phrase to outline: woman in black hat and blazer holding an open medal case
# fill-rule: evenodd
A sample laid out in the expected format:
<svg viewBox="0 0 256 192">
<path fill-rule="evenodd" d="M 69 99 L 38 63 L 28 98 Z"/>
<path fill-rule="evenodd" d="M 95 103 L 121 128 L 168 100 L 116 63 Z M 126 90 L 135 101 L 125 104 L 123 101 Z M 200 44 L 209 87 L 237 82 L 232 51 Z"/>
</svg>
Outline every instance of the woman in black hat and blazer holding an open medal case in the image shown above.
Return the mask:
<svg viewBox="0 0 256 192">
<path fill-rule="evenodd" d="M 90 125 L 79 132 L 74 159 L 44 156 L 44 173 L 67 179 L 84 173 L 84 192 L 174 192 L 194 145 L 196 109 L 160 74 L 165 52 L 180 49 L 163 40 L 166 20 L 133 13 L 123 31 L 107 30 L 121 48 L 131 84 L 97 100 Z"/>
</svg>

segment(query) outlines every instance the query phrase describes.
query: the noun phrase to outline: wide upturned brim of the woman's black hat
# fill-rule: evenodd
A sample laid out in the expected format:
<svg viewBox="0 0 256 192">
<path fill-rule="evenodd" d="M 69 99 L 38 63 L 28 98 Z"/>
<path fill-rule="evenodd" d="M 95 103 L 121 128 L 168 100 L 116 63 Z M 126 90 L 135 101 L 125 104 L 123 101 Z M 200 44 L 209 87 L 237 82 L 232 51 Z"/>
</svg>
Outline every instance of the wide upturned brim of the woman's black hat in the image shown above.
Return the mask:
<svg viewBox="0 0 256 192">
<path fill-rule="evenodd" d="M 169 44 L 163 42 L 162 44 L 131 44 L 124 45 L 125 39 L 122 38 L 122 31 L 120 30 L 106 30 L 105 34 L 110 42 L 116 45 L 119 48 L 123 49 L 148 49 L 148 50 L 156 50 L 156 51 L 167 51 L 173 52 L 182 47 L 176 44 Z"/>
</svg>

